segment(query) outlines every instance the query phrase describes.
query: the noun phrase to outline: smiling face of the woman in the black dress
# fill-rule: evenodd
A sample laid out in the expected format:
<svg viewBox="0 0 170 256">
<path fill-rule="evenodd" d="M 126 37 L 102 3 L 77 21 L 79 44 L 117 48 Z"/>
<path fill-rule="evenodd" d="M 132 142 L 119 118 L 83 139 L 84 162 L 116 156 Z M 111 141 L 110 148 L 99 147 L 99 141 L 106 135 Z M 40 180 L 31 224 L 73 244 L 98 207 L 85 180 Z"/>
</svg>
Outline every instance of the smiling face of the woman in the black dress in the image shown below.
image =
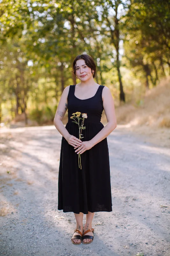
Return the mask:
<svg viewBox="0 0 170 256">
<path fill-rule="evenodd" d="M 80 59 L 76 61 L 76 75 L 80 80 L 88 80 L 91 76 L 93 76 L 92 72 L 94 72 L 94 70 L 85 64 L 85 60 Z"/>
</svg>

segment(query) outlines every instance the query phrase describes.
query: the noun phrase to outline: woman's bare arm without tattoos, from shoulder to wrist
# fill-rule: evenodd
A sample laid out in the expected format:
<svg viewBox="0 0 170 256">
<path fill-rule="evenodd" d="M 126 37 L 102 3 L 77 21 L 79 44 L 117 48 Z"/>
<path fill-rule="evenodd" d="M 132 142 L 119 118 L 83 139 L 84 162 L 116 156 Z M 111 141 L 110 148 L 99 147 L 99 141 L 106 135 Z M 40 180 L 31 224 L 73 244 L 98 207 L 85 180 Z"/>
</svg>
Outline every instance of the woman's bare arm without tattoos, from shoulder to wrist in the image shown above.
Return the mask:
<svg viewBox="0 0 170 256">
<path fill-rule="evenodd" d="M 96 134 L 96 136 L 92 138 L 92 140 L 89 140 L 89 142 L 92 144 L 92 147 L 99 143 L 101 140 L 104 140 L 117 126 L 114 100 L 110 89 L 106 86 L 103 88 L 102 98 L 103 108 L 107 118 L 107 124 L 100 132 L 98 132 L 98 134 Z"/>
</svg>

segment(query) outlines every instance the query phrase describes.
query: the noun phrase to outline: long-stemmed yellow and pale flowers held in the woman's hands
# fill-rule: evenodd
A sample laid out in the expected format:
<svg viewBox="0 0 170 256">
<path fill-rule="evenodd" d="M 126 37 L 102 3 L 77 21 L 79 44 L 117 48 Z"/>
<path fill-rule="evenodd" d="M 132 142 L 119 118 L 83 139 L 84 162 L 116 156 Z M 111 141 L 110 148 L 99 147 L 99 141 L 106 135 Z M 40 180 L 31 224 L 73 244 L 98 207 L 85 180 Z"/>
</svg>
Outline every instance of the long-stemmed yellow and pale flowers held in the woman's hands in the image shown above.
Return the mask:
<svg viewBox="0 0 170 256">
<path fill-rule="evenodd" d="M 80 117 L 80 115 L 82 115 L 82 117 Z M 83 113 L 81 114 L 81 112 L 76 112 L 76 113 L 73 113 L 72 116 L 70 117 L 71 119 L 74 119 L 74 121 L 72 121 L 73 123 L 76 123 L 78 124 L 78 127 L 79 127 L 79 140 L 81 138 L 84 138 L 84 137 L 81 137 L 81 135 L 83 135 L 81 132 L 82 130 L 85 129 L 85 126 L 83 126 L 84 124 L 84 120 L 85 118 L 87 118 L 87 114 L 86 113 Z M 77 120 L 76 120 L 77 119 Z M 80 124 L 80 120 L 82 120 L 81 124 Z M 80 159 L 80 160 L 79 160 Z M 79 163 L 80 162 L 80 163 Z M 81 157 L 80 157 L 80 153 L 78 154 L 78 167 L 81 169 Z"/>
</svg>

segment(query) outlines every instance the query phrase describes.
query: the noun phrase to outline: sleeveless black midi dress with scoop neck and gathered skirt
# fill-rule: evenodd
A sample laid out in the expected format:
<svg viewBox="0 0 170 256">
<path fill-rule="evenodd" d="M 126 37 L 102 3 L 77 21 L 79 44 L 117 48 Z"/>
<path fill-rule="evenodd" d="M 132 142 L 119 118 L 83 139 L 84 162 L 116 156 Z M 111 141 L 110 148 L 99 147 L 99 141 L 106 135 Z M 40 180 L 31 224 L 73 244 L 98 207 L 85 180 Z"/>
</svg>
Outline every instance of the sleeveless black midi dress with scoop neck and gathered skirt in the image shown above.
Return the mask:
<svg viewBox="0 0 170 256">
<path fill-rule="evenodd" d="M 75 95 L 75 86 L 70 85 L 68 93 L 67 131 L 79 138 L 78 124 L 70 118 L 73 113 L 86 113 L 85 130 L 82 141 L 91 140 L 104 125 L 100 122 L 103 112 L 102 90 L 100 85 L 96 94 L 85 100 Z M 81 120 L 82 121 L 82 120 Z M 81 124 L 80 121 L 80 124 Z M 58 175 L 58 210 L 88 214 L 89 212 L 111 212 L 112 197 L 110 166 L 107 138 L 101 140 L 81 156 L 82 169 L 78 167 L 78 154 L 64 137 L 61 142 L 61 154 Z"/>
</svg>

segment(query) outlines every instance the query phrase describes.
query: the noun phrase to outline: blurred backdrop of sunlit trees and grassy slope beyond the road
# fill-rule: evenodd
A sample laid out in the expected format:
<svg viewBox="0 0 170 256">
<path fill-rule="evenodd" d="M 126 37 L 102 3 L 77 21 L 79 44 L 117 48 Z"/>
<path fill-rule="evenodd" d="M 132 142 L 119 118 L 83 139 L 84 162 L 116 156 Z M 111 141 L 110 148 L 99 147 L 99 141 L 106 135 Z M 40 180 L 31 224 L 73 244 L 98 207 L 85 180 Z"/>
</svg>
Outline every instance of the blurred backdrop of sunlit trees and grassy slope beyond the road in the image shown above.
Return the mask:
<svg viewBox="0 0 170 256">
<path fill-rule="evenodd" d="M 1 129 L 53 124 L 63 89 L 80 82 L 74 58 L 89 54 L 118 124 L 169 131 L 170 1 L 1 0 L 0 27 Z"/>
</svg>

